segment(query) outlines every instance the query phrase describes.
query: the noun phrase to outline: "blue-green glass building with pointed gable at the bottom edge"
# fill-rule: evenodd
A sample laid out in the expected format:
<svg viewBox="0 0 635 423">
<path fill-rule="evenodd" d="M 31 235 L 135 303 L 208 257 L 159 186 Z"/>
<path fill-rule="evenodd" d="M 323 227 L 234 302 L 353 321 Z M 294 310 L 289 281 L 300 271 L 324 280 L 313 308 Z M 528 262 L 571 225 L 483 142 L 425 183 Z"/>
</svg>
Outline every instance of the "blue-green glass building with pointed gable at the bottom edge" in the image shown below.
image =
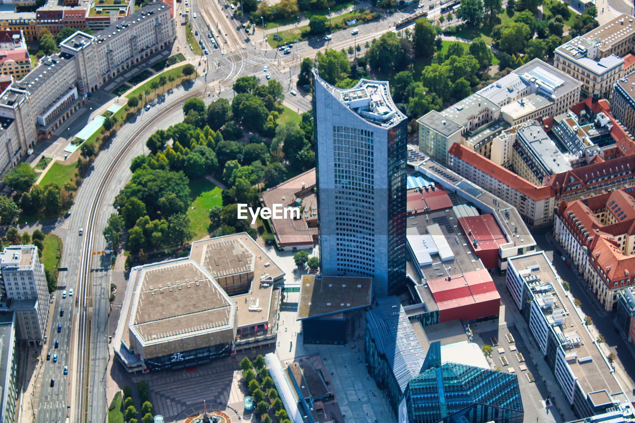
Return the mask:
<svg viewBox="0 0 635 423">
<path fill-rule="evenodd" d="M 441 364 L 433 342 L 417 377 L 408 383 L 399 421 L 408 423 L 522 423 L 518 377 L 458 363 Z"/>
</svg>

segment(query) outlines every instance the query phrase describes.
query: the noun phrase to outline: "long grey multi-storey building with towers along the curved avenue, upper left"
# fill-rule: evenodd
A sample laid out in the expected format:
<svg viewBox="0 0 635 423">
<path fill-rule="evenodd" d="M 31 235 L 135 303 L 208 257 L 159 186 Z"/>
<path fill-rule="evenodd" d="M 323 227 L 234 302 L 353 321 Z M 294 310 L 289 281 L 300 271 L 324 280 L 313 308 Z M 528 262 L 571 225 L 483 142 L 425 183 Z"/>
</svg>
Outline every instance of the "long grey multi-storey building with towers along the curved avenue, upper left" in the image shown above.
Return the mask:
<svg viewBox="0 0 635 423">
<path fill-rule="evenodd" d="M 0 144 L 11 140 L 6 156 L 0 152 L 0 168 L 8 170 L 38 138 L 50 137 L 79 110 L 89 93 L 169 49 L 175 36 L 170 8 L 157 1 L 94 36 L 78 31 L 62 41 L 60 53 L 43 57 L 0 95 L 0 117 L 9 119 L 6 132 L 0 132 Z"/>
</svg>

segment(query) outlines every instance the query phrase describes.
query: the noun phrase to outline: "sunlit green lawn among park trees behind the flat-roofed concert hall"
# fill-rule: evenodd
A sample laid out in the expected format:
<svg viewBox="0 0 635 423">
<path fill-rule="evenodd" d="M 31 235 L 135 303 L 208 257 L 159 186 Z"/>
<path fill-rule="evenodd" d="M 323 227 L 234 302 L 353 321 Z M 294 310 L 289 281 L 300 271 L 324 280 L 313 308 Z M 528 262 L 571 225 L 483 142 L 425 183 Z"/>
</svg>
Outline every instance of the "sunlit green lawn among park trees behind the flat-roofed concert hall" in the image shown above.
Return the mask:
<svg viewBox="0 0 635 423">
<path fill-rule="evenodd" d="M 189 187 L 192 204 L 187 209 L 187 215 L 190 229 L 194 232 L 192 239 L 201 239 L 210 233 L 210 209 L 223 205 L 222 189 L 206 179 L 190 180 Z"/>
</svg>

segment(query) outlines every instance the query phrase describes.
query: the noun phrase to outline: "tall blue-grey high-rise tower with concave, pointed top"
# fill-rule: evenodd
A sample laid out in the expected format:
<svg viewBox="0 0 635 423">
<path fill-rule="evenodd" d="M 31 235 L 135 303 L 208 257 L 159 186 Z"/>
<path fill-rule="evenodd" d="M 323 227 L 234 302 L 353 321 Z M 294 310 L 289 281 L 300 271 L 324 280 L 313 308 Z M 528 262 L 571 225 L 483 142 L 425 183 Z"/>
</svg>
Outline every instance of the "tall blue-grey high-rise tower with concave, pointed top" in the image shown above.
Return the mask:
<svg viewBox="0 0 635 423">
<path fill-rule="evenodd" d="M 378 297 L 398 292 L 406 266 L 408 120 L 387 82 L 349 90 L 314 78 L 321 269 L 373 276 Z"/>
</svg>

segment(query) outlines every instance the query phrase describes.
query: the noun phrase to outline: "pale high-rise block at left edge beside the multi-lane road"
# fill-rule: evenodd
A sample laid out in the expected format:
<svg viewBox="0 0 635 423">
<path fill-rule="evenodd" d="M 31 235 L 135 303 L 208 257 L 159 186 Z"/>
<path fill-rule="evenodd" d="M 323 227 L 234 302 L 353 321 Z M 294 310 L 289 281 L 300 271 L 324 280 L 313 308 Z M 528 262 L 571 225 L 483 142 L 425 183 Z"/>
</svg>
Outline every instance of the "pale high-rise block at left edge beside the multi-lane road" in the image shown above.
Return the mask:
<svg viewBox="0 0 635 423">
<path fill-rule="evenodd" d="M 17 314 L 20 339 L 41 342 L 48 316 L 49 293 L 34 245 L 12 245 L 0 253 L 3 295 Z"/>
</svg>

